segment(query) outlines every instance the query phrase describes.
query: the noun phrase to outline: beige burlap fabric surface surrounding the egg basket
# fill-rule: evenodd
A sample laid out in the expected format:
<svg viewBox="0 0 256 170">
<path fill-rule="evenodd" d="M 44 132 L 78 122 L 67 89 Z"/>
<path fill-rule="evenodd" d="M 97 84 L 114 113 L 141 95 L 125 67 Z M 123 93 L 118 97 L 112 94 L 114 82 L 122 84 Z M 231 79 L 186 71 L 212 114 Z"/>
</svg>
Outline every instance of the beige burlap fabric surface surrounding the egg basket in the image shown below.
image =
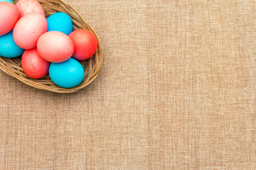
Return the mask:
<svg viewBox="0 0 256 170">
<path fill-rule="evenodd" d="M 105 61 L 75 94 L 0 72 L 0 169 L 256 169 L 256 1 L 66 0 Z"/>
</svg>

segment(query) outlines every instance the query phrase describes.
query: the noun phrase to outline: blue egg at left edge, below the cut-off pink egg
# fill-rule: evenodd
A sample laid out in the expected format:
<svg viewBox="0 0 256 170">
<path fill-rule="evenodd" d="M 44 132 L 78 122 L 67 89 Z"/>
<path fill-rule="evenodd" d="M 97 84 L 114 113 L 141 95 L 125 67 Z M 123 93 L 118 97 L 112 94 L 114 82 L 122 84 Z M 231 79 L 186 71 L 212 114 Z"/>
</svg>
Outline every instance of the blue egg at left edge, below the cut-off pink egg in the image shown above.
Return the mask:
<svg viewBox="0 0 256 170">
<path fill-rule="evenodd" d="M 0 36 L 0 55 L 7 58 L 21 56 L 24 50 L 14 42 L 13 31 Z"/>
</svg>

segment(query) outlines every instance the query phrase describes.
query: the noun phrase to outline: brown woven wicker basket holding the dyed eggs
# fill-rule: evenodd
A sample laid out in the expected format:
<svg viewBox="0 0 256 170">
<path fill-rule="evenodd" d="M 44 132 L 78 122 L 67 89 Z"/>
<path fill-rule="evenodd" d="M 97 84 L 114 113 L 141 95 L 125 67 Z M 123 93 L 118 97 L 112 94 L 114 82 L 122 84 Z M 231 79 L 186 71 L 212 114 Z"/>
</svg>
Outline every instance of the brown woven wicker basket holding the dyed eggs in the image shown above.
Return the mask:
<svg viewBox="0 0 256 170">
<path fill-rule="evenodd" d="M 14 4 L 16 4 L 16 1 L 18 0 L 14 0 Z M 67 13 L 73 21 L 74 30 L 90 30 L 96 36 L 98 41 L 97 52 L 89 60 L 80 62 L 85 69 L 85 77 L 82 80 L 82 83 L 78 86 L 75 86 L 74 88 L 65 89 L 54 84 L 53 81 L 50 80 L 49 76 L 43 77 L 42 79 L 31 79 L 23 72 L 23 69 L 21 67 L 21 57 L 16 57 L 12 59 L 0 57 L 0 69 L 6 72 L 6 74 L 9 74 L 11 77 L 15 77 L 23 83 L 36 87 L 38 89 L 53 91 L 60 94 L 69 94 L 75 91 L 79 91 L 80 89 L 90 84 L 100 72 L 100 67 L 102 66 L 103 60 L 100 40 L 97 37 L 95 31 L 91 28 L 91 26 L 88 23 L 86 23 L 83 20 L 82 16 L 80 16 L 80 14 L 77 11 L 75 11 L 75 9 L 70 5 L 65 4 L 65 2 L 61 0 L 38 1 L 43 6 L 43 9 L 46 13 L 46 17 L 56 12 Z"/>
</svg>

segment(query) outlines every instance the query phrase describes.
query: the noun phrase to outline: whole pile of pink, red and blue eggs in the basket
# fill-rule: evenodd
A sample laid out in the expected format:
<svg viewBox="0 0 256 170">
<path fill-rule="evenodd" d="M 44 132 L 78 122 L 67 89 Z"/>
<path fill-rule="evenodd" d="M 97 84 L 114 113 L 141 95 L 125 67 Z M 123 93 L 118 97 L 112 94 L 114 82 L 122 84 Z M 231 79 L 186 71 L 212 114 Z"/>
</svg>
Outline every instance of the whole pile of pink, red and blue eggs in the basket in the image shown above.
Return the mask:
<svg viewBox="0 0 256 170">
<path fill-rule="evenodd" d="M 97 38 L 88 30 L 73 31 L 66 13 L 47 19 L 36 0 L 0 0 L 0 55 L 21 57 L 23 71 L 32 79 L 47 74 L 58 86 L 78 86 L 85 72 L 78 60 L 87 60 L 97 50 Z"/>
</svg>

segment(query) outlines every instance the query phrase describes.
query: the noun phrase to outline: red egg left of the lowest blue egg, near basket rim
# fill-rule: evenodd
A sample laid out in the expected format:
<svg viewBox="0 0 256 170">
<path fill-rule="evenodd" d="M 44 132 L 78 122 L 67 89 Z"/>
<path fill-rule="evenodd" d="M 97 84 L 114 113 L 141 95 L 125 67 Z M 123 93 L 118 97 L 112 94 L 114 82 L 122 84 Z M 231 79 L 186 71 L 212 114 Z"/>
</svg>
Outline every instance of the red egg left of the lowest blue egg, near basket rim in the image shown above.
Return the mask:
<svg viewBox="0 0 256 170">
<path fill-rule="evenodd" d="M 41 57 L 36 48 L 25 50 L 21 57 L 23 71 L 32 79 L 40 79 L 48 74 L 50 62 Z"/>
</svg>

